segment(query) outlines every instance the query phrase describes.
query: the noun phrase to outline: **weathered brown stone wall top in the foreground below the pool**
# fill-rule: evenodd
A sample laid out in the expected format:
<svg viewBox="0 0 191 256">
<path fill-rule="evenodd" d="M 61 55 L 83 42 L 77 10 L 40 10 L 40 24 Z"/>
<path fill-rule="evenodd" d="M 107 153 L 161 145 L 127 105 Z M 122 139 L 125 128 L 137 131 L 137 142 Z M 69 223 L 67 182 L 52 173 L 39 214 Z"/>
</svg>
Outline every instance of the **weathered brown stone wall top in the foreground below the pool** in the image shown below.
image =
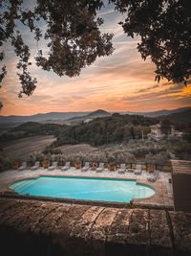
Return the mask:
<svg viewBox="0 0 191 256">
<path fill-rule="evenodd" d="M 4 255 L 191 255 L 191 214 L 0 198 Z"/>
</svg>

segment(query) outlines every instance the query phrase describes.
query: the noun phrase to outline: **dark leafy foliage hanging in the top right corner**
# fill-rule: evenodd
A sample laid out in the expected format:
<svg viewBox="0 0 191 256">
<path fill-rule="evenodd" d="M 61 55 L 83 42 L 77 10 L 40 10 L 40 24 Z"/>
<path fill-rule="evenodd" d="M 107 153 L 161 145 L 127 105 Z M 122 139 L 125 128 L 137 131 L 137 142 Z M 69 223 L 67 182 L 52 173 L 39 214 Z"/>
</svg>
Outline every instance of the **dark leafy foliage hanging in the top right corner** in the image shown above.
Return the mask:
<svg viewBox="0 0 191 256">
<path fill-rule="evenodd" d="M 187 80 L 191 74 L 191 1 L 111 0 L 127 13 L 124 32 L 139 35 L 138 51 L 156 64 L 156 81 Z"/>
</svg>

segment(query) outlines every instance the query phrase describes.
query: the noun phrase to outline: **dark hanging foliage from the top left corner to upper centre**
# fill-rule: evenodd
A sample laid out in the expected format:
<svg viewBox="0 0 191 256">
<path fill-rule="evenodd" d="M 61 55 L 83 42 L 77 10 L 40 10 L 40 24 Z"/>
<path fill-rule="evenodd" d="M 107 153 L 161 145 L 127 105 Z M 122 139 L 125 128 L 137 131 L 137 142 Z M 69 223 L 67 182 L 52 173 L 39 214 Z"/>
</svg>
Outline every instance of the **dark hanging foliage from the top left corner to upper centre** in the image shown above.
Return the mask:
<svg viewBox="0 0 191 256">
<path fill-rule="evenodd" d="M 0 1 L 4 11 L 0 12 L 0 46 L 10 40 L 19 58 L 16 67 L 22 85 L 20 97 L 31 95 L 37 81 L 29 72 L 30 47 L 22 38 L 18 21 L 30 28 L 37 42 L 42 36 L 47 40 L 48 57 L 39 50 L 36 64 L 44 70 L 53 70 L 58 76 L 77 76 L 97 57 L 112 54 L 113 35 L 101 34 L 98 29 L 103 20 L 96 18 L 96 11 L 102 7 L 102 1 L 37 0 L 34 10 L 25 9 L 22 3 L 22 0 Z M 40 30 L 42 22 L 47 25 L 44 35 Z M 1 59 L 4 56 L 2 52 Z M 2 77 L 4 75 L 2 70 Z"/>
</svg>

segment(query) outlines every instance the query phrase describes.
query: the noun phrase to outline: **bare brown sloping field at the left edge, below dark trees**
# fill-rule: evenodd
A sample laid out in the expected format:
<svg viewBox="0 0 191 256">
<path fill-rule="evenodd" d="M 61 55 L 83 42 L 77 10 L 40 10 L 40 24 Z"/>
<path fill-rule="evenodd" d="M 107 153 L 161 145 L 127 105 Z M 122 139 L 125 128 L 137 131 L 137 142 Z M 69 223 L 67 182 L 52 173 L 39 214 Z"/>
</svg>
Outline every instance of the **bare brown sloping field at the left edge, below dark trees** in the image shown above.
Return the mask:
<svg viewBox="0 0 191 256">
<path fill-rule="evenodd" d="M 32 136 L 28 138 L 18 139 L 1 144 L 3 152 L 13 159 L 25 159 L 32 152 L 41 152 L 46 146 L 53 143 L 53 136 Z"/>
</svg>

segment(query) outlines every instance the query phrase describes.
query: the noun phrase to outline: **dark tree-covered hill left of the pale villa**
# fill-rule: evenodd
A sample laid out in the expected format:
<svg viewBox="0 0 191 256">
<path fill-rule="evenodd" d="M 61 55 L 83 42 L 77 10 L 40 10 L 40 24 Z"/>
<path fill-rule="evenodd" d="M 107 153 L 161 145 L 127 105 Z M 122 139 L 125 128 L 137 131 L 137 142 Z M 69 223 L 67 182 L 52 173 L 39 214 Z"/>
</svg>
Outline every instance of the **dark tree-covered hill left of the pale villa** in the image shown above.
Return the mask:
<svg viewBox="0 0 191 256">
<path fill-rule="evenodd" d="M 80 123 L 60 132 L 54 143 L 55 147 L 66 144 L 88 143 L 99 146 L 109 143 L 129 141 L 146 135 L 150 125 L 158 120 L 138 115 L 120 115 L 96 118 L 89 123 Z"/>
</svg>

